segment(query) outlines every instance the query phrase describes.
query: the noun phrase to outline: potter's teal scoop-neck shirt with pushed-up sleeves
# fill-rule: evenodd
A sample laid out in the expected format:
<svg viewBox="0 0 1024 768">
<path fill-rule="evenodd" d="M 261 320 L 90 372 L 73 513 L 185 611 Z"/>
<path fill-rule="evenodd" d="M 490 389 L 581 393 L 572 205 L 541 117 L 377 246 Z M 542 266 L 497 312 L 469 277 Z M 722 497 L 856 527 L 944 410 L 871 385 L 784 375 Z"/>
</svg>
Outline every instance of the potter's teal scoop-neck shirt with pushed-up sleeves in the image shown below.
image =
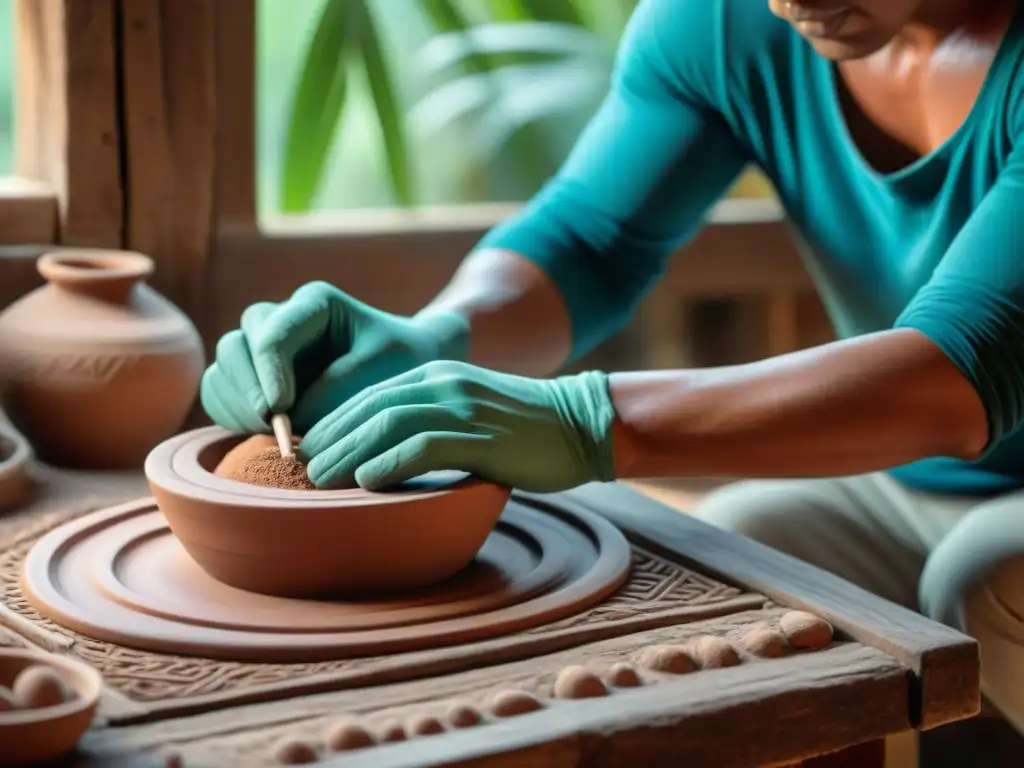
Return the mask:
<svg viewBox="0 0 1024 768">
<path fill-rule="evenodd" d="M 801 236 L 839 334 L 916 329 L 985 404 L 991 439 L 979 461 L 934 458 L 892 474 L 939 493 L 1024 486 L 1024 9 L 966 122 L 895 173 L 873 170 L 852 142 L 835 78 L 765 0 L 642 0 L 569 158 L 480 247 L 547 271 L 579 355 L 625 325 L 754 164 Z"/>
</svg>

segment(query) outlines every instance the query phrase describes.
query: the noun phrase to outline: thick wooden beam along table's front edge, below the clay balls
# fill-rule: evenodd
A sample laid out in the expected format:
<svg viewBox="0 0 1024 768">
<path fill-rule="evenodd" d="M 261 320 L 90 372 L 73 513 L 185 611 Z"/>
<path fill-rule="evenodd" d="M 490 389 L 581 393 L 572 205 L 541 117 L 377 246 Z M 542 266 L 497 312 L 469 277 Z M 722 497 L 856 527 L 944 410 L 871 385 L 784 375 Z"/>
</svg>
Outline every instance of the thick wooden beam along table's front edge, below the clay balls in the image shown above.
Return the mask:
<svg viewBox="0 0 1024 768">
<path fill-rule="evenodd" d="M 841 645 L 705 672 L 440 737 L 327 759 L 345 768 L 748 768 L 802 760 L 909 727 L 909 674 Z"/>
</svg>

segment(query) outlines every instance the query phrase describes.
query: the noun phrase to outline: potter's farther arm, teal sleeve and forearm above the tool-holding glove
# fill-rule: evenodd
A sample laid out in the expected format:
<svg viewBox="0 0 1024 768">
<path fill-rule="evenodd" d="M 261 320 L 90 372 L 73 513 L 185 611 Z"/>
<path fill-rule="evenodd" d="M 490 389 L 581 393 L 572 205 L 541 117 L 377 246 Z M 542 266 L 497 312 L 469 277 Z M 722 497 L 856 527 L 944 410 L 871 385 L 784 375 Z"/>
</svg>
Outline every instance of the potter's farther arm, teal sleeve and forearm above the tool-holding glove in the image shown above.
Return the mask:
<svg viewBox="0 0 1024 768">
<path fill-rule="evenodd" d="M 742 170 L 713 105 L 714 5 L 640 4 L 611 90 L 558 175 L 424 310 L 468 321 L 472 362 L 546 376 L 614 333 Z"/>
</svg>

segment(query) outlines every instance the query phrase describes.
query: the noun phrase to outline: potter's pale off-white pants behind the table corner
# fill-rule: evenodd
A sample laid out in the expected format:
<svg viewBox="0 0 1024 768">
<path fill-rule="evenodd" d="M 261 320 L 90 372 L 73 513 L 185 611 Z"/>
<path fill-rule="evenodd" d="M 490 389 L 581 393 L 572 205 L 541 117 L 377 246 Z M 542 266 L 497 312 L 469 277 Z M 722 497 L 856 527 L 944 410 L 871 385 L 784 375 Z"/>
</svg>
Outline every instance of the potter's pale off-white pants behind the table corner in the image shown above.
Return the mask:
<svg viewBox="0 0 1024 768">
<path fill-rule="evenodd" d="M 1024 492 L 938 496 L 882 473 L 751 480 L 696 515 L 971 635 L 985 696 L 1024 733 Z"/>
</svg>

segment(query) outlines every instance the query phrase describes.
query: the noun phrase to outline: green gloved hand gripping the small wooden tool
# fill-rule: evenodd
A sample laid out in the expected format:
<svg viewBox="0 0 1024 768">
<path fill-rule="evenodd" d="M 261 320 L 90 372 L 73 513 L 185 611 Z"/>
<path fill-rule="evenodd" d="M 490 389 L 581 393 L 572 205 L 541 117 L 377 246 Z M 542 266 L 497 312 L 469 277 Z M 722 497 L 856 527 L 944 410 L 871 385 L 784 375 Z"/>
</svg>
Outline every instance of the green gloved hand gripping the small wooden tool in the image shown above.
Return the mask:
<svg viewBox="0 0 1024 768">
<path fill-rule="evenodd" d="M 402 317 L 368 306 L 328 283 L 287 301 L 253 304 L 242 327 L 217 343 L 200 397 L 214 423 L 268 432 L 287 413 L 296 433 L 372 384 L 435 359 L 464 359 L 468 329 L 454 314 Z"/>
</svg>

